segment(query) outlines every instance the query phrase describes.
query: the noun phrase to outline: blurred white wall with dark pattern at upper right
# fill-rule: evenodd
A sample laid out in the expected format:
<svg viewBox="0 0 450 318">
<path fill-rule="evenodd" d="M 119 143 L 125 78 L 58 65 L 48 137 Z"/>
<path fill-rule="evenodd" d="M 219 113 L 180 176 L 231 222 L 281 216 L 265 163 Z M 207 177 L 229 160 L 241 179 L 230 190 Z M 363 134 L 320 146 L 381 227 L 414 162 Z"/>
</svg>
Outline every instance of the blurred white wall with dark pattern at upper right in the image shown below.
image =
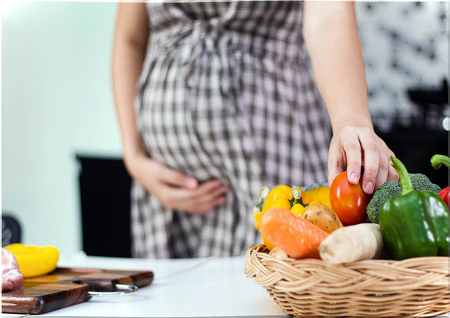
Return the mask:
<svg viewBox="0 0 450 318">
<path fill-rule="evenodd" d="M 356 14 L 371 112 L 416 113 L 406 89 L 448 78 L 448 2 L 357 2 Z"/>
</svg>

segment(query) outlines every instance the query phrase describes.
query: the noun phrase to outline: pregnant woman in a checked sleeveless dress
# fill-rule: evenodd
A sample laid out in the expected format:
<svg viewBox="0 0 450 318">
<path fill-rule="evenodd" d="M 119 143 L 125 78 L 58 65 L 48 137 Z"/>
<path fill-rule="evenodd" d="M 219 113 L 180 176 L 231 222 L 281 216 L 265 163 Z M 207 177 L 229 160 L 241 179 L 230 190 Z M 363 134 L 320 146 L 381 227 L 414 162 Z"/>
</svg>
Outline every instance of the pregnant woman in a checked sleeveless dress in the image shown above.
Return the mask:
<svg viewBox="0 0 450 318">
<path fill-rule="evenodd" d="M 243 254 L 261 185 L 398 179 L 351 2 L 121 3 L 112 71 L 135 257 Z"/>
</svg>

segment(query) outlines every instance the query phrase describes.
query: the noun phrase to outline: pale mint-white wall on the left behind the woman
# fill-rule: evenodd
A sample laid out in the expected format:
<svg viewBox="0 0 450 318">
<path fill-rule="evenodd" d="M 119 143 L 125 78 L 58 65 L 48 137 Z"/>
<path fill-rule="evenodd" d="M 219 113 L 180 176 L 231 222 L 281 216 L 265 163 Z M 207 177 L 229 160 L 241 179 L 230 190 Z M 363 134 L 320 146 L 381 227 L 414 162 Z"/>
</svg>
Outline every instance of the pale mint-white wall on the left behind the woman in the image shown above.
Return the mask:
<svg viewBox="0 0 450 318">
<path fill-rule="evenodd" d="M 120 154 L 115 3 L 18 3 L 2 16 L 2 210 L 27 244 L 81 249 L 75 152 Z"/>
</svg>

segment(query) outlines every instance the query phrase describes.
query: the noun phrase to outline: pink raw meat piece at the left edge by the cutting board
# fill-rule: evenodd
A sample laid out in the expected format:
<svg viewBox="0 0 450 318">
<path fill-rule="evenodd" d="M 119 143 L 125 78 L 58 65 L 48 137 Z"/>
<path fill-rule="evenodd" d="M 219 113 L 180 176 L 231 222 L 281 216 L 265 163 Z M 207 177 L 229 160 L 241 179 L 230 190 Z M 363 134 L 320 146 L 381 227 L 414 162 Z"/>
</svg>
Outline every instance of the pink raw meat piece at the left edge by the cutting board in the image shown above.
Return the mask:
<svg viewBox="0 0 450 318">
<path fill-rule="evenodd" d="M 1 249 L 1 292 L 14 292 L 22 289 L 23 275 L 13 253 Z"/>
</svg>

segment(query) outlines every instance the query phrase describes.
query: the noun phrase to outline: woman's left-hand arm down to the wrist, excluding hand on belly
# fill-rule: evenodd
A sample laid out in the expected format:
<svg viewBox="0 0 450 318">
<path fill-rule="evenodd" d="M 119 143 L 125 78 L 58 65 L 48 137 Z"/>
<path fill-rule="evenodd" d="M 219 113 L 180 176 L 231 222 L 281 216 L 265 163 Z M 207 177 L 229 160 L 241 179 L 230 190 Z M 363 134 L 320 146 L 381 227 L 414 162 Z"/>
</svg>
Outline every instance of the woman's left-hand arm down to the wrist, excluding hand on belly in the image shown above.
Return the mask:
<svg viewBox="0 0 450 318">
<path fill-rule="evenodd" d="M 114 37 L 112 85 L 126 164 L 134 155 L 144 153 L 133 106 L 148 39 L 148 24 L 144 13 L 145 7 L 140 3 L 119 4 Z"/>
</svg>

